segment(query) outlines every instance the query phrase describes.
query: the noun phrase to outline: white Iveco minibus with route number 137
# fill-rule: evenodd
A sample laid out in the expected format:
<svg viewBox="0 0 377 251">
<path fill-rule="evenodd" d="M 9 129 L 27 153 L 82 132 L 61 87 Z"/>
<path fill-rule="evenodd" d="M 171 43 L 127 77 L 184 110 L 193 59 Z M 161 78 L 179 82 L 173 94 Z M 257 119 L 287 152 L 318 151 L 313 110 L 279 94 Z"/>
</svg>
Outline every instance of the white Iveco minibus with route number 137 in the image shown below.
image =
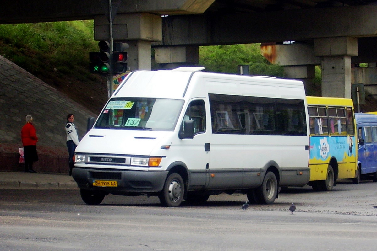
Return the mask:
<svg viewBox="0 0 377 251">
<path fill-rule="evenodd" d="M 202 71 L 131 72 L 75 151 L 83 201 L 158 196 L 177 207 L 220 193 L 272 204 L 310 179 L 301 81 Z"/>
</svg>

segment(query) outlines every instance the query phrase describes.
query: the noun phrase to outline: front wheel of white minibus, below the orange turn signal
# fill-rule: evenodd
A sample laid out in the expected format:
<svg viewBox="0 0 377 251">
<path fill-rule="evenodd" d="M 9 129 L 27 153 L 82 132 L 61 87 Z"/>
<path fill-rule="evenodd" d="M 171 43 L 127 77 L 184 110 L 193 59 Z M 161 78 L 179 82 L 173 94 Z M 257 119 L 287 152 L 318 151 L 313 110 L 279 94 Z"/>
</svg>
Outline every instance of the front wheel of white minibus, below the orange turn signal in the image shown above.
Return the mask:
<svg viewBox="0 0 377 251">
<path fill-rule="evenodd" d="M 178 173 L 170 174 L 164 184 L 158 198 L 162 205 L 167 207 L 179 207 L 183 200 L 185 185 L 181 175 Z"/>
</svg>

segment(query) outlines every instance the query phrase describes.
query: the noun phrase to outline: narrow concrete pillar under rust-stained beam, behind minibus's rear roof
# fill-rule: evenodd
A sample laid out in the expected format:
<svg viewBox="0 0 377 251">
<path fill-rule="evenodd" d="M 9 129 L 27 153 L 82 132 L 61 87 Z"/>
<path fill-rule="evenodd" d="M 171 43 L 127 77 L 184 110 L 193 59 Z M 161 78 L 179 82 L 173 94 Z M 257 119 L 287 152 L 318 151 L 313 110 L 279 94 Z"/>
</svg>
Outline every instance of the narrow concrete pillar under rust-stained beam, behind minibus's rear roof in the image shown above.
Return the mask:
<svg viewBox="0 0 377 251">
<path fill-rule="evenodd" d="M 284 66 L 284 72 L 287 78 L 301 80 L 304 83 L 307 96 L 313 95 L 313 82 L 316 78 L 315 65 Z"/>
</svg>

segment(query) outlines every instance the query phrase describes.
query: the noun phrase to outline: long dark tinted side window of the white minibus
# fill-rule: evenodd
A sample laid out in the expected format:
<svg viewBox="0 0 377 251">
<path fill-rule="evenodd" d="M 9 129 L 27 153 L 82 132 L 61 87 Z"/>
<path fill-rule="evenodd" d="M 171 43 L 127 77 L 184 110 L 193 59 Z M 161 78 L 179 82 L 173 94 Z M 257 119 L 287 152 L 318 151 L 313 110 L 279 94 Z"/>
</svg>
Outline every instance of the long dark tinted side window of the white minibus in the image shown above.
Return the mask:
<svg viewBox="0 0 377 251">
<path fill-rule="evenodd" d="M 208 97 L 212 133 L 307 135 L 303 100 L 225 94 Z"/>
</svg>

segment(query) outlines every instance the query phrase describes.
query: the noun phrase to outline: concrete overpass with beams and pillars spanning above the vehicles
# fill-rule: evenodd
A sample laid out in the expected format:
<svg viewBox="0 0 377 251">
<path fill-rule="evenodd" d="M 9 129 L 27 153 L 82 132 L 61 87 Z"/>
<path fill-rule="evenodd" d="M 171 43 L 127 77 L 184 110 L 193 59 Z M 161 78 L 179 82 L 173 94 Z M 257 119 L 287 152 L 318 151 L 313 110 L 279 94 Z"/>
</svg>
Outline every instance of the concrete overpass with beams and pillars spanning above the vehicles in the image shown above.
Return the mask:
<svg viewBox="0 0 377 251">
<path fill-rule="evenodd" d="M 322 96 L 351 97 L 351 63 L 377 62 L 375 1 L 112 0 L 113 38 L 130 44 L 131 70 L 151 67 L 152 46 L 169 68 L 197 64 L 198 46 L 270 43 L 265 56 L 288 76 L 309 88 L 321 65 Z M 108 13 L 109 0 L 14 0 L 0 9 L 0 24 L 93 19 L 95 40 L 106 40 Z"/>
</svg>

